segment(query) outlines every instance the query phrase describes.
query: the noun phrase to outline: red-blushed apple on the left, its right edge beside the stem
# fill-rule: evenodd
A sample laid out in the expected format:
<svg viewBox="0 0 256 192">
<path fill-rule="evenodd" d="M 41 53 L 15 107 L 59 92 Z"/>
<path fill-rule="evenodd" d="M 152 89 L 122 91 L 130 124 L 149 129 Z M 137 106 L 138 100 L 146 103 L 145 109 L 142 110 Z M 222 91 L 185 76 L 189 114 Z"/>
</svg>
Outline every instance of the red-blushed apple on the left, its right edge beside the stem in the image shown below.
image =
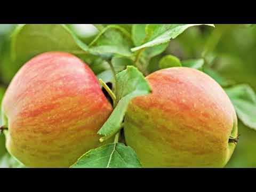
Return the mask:
<svg viewBox="0 0 256 192">
<path fill-rule="evenodd" d="M 97 132 L 113 108 L 82 60 L 47 52 L 18 71 L 2 110 L 9 153 L 27 167 L 69 167 L 100 146 Z"/>
</svg>

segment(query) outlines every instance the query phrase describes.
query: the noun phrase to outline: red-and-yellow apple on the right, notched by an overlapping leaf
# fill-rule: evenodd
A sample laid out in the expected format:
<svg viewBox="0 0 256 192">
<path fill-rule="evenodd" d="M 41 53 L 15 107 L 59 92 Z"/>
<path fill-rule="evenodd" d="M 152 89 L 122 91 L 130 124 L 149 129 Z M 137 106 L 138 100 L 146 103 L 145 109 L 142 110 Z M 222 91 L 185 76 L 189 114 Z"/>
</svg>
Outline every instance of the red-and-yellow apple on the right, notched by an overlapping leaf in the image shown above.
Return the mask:
<svg viewBox="0 0 256 192">
<path fill-rule="evenodd" d="M 235 149 L 237 116 L 222 87 L 199 70 L 173 67 L 146 77 L 153 92 L 125 115 L 127 145 L 143 167 L 223 167 Z"/>
</svg>

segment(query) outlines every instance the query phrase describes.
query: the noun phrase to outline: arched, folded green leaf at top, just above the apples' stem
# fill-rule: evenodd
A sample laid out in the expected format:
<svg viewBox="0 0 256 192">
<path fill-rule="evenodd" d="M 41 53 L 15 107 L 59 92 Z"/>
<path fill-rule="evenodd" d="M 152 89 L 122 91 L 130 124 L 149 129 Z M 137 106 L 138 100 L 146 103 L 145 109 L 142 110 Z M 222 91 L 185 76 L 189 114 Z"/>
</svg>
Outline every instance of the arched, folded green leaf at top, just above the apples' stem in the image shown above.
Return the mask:
<svg viewBox="0 0 256 192">
<path fill-rule="evenodd" d="M 114 54 L 131 57 L 132 47 L 131 35 L 122 27 L 109 25 L 89 45 L 89 52 L 101 55 L 103 58 L 110 58 Z"/>
</svg>

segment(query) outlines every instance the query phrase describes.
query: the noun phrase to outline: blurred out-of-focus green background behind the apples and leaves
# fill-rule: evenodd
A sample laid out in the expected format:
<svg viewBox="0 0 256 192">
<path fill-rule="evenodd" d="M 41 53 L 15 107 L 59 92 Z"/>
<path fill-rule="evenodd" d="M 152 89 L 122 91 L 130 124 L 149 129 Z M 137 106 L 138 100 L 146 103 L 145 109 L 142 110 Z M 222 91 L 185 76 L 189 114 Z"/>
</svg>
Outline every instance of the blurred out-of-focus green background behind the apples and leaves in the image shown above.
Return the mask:
<svg viewBox="0 0 256 192">
<path fill-rule="evenodd" d="M 68 26 L 85 43 L 90 43 L 98 34 L 97 28 L 90 24 Z M 0 24 L 0 101 L 12 77 L 21 67 L 11 65 L 9 62 L 10 35 L 14 27 L 14 24 Z M 254 25 L 222 24 L 215 25 L 214 29 L 206 26 L 192 27 L 173 39 L 163 54 L 175 55 L 180 60 L 204 57 L 207 68 L 213 71 L 212 73 L 218 73 L 223 84 L 246 83 L 256 91 L 256 27 Z M 157 65 L 154 63 L 157 63 L 162 55 L 150 60 L 152 70 L 156 70 Z M 256 131 L 246 127 L 242 122 L 239 122 L 238 130 L 241 134 L 240 139 L 226 167 L 256 167 L 254 152 Z M 20 164 L 7 154 L 4 137 L 0 135 L 0 167 L 17 166 Z"/>
</svg>

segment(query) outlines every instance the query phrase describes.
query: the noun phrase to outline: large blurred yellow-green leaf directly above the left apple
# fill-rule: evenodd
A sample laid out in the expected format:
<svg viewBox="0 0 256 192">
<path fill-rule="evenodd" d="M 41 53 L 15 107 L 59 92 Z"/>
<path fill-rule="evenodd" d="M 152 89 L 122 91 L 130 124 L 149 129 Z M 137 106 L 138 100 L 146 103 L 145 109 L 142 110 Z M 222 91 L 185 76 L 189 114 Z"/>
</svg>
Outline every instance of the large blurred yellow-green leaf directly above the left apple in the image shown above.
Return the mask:
<svg viewBox="0 0 256 192">
<path fill-rule="evenodd" d="M 85 54 L 86 44 L 64 24 L 22 24 L 12 35 L 12 57 L 28 60 L 48 51 Z"/>
</svg>

